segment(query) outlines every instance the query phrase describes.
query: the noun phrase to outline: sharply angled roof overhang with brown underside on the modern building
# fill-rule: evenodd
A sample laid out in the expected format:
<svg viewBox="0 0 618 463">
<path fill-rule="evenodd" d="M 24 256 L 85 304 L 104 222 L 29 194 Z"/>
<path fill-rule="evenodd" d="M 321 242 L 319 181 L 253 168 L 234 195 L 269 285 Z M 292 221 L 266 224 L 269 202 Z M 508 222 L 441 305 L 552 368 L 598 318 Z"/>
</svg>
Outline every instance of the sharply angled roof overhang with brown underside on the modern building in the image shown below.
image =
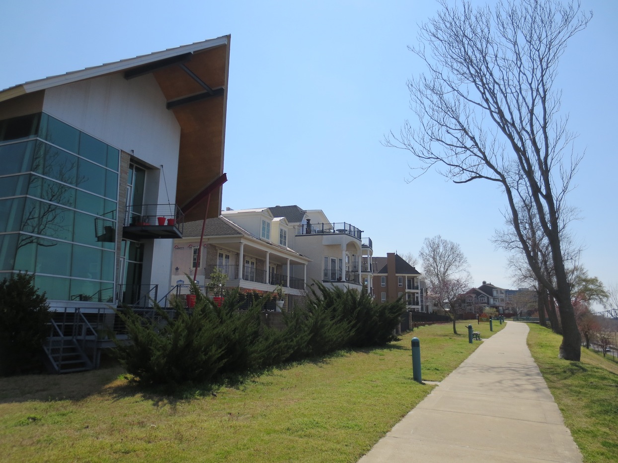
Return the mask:
<svg viewBox="0 0 618 463">
<path fill-rule="evenodd" d="M 127 79 L 152 73 L 180 125 L 176 202 L 185 220 L 217 217 L 223 175 L 230 36 L 180 46 L 66 73 L 0 91 L 0 102 L 80 80 L 122 72 Z"/>
</svg>

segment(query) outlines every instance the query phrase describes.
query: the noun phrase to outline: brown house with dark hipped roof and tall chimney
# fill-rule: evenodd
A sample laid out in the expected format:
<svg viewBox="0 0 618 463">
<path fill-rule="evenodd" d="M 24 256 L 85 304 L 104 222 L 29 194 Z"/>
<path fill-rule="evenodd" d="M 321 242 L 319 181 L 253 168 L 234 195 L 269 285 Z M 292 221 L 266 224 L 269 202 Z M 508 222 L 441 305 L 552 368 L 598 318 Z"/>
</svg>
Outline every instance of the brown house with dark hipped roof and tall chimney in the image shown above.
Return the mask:
<svg viewBox="0 0 618 463">
<path fill-rule="evenodd" d="M 421 273 L 403 257 L 388 252 L 386 257 L 373 257 L 373 265 L 376 302 L 392 302 L 404 296 L 408 309 L 417 312 L 430 311 L 425 304 L 426 291 L 421 285 Z"/>
</svg>

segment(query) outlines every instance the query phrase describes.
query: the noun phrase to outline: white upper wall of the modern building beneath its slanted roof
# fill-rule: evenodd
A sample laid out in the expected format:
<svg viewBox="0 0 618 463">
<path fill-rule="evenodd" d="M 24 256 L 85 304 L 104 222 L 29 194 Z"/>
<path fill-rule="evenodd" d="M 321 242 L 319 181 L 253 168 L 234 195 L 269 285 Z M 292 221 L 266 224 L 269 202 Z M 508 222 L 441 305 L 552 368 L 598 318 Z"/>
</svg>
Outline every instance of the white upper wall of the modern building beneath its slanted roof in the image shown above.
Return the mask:
<svg viewBox="0 0 618 463">
<path fill-rule="evenodd" d="M 148 197 L 156 204 L 166 204 L 168 197 L 171 204 L 176 202 L 180 126 L 166 109 L 152 75 L 125 80 L 115 74 L 51 88 L 46 90 L 43 111 L 156 169 L 163 165 L 165 181 L 160 170 L 147 176 Z M 145 282 L 159 285 L 164 294 L 171 277 L 173 242 L 152 240 L 147 246 L 151 262 L 144 262 Z"/>
</svg>

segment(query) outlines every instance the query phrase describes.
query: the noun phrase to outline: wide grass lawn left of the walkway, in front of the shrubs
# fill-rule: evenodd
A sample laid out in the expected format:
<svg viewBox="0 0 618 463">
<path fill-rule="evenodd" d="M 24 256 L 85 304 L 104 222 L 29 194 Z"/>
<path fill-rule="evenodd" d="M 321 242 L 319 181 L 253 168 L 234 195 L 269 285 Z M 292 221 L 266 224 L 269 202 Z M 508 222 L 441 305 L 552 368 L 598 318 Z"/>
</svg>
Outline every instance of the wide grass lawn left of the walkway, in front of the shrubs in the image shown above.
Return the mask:
<svg viewBox="0 0 618 463">
<path fill-rule="evenodd" d="M 458 336 L 449 323 L 421 327 L 384 348 L 174 397 L 138 390 L 114 365 L 3 378 L 0 460 L 355 462 L 434 387 L 412 380 L 412 337 L 423 380 L 440 381 L 480 345 L 468 343 L 468 323 Z"/>
</svg>

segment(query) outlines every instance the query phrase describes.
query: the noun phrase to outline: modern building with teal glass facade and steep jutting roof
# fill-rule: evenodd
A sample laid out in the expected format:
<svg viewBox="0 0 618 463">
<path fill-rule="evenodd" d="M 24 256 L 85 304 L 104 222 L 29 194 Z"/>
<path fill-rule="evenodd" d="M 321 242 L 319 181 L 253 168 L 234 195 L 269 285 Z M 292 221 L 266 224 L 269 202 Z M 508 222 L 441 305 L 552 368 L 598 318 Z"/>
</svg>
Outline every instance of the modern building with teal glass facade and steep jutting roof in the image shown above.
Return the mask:
<svg viewBox="0 0 618 463">
<path fill-rule="evenodd" d="M 0 91 L 0 278 L 82 311 L 170 290 L 173 238 L 221 210 L 229 39 Z"/>
</svg>

